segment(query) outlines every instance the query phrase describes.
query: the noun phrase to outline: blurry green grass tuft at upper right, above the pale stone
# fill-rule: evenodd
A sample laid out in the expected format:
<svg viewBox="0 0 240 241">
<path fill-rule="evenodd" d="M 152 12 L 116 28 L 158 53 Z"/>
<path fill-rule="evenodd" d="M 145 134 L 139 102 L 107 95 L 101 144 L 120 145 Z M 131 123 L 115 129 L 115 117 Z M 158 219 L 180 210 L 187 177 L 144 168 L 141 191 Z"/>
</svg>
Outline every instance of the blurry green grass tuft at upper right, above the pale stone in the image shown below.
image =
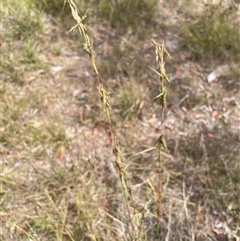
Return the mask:
<svg viewBox="0 0 240 241">
<path fill-rule="evenodd" d="M 238 9 L 207 5 L 204 14 L 182 27 L 183 46 L 197 59 L 240 61 Z"/>
</svg>

